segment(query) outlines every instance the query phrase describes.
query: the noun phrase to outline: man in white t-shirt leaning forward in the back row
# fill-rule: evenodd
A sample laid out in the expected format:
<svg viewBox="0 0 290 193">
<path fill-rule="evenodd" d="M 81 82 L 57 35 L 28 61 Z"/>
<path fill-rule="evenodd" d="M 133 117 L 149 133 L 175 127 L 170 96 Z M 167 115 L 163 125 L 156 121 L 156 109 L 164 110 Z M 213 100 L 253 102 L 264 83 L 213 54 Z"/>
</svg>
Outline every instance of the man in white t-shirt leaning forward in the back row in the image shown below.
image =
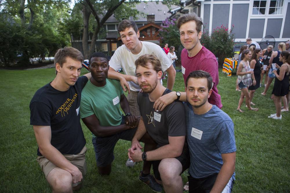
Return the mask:
<svg viewBox="0 0 290 193">
<path fill-rule="evenodd" d="M 167 88 L 173 89 L 176 71 L 172 65 L 173 61 L 165 54 L 160 46 L 151 42 L 139 41 L 140 32 L 134 21 L 123 20 L 118 25 L 118 32 L 124 45 L 118 47 L 109 61 L 108 78 L 120 80 L 124 91 L 128 89 L 127 96 L 130 111 L 136 117 L 140 116 L 137 104 L 137 94 L 140 87 L 136 77 L 135 60 L 144 54 L 155 54 L 161 62 L 162 71 L 168 74 Z M 123 69 L 124 74 L 118 73 Z M 127 82 L 128 81 L 128 82 Z"/>
</svg>

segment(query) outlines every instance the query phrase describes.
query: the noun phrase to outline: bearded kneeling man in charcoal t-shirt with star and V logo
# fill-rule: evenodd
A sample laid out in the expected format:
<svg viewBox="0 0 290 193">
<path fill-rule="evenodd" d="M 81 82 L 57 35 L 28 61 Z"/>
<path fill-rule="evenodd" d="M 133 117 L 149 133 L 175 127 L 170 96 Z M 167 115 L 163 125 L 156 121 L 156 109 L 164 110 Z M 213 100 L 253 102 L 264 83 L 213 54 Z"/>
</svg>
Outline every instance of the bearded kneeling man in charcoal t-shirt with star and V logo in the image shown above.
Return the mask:
<svg viewBox="0 0 290 193">
<path fill-rule="evenodd" d="M 162 112 L 155 111 L 153 108 L 155 100 L 171 92 L 160 83 L 162 77 L 160 60 L 153 54 L 145 54 L 135 61 L 135 65 L 138 84 L 143 90 L 137 98 L 141 120 L 132 139 L 131 149 L 128 150 L 128 156 L 136 162 L 153 161 L 155 179 L 162 183 L 165 192 L 183 192 L 180 175 L 189 167 L 190 162 L 185 142 L 184 106 L 181 102 L 175 101 L 166 106 Z M 157 149 L 142 153 L 139 140 L 146 132 L 157 143 Z M 139 179 L 143 181 L 146 175 L 148 174 L 141 172 Z"/>
</svg>

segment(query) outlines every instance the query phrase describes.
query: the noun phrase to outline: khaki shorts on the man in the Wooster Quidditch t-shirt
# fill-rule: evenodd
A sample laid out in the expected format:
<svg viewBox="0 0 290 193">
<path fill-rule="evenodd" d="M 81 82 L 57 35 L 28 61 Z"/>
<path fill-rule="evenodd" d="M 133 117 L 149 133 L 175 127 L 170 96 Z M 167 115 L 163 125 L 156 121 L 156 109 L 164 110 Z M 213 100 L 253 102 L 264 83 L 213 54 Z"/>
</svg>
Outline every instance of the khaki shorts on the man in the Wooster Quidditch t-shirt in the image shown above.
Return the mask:
<svg viewBox="0 0 290 193">
<path fill-rule="evenodd" d="M 81 174 L 83 175 L 83 180 L 84 180 L 84 176 L 86 175 L 86 171 L 87 171 L 87 164 L 86 164 L 86 159 L 85 159 L 86 151 L 87 151 L 87 148 L 86 148 L 86 146 L 84 146 L 84 148 L 76 155 L 64 155 L 64 157 L 70 163 L 72 163 L 74 166 L 79 168 L 79 170 L 81 171 Z M 47 179 L 47 175 L 49 174 L 49 172 L 53 168 L 57 167 L 56 165 L 51 163 L 48 159 L 46 159 L 44 156 L 38 156 L 36 161 L 39 163 L 41 170 L 44 173 L 46 179 Z M 82 181 L 73 184 L 73 186 L 79 185 L 80 183 L 82 183 Z"/>
</svg>

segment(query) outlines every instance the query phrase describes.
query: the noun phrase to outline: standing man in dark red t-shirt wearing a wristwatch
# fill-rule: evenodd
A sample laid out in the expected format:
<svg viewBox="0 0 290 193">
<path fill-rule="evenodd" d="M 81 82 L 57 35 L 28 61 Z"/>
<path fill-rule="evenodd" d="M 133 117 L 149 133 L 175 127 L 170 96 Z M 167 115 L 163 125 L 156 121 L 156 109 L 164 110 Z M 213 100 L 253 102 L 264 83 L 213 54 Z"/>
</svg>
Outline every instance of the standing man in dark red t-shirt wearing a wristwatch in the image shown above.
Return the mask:
<svg viewBox="0 0 290 193">
<path fill-rule="evenodd" d="M 203 70 L 208 72 L 213 78 L 213 91 L 209 97 L 209 103 L 214 104 L 221 109 L 222 102 L 217 89 L 219 82 L 218 62 L 215 55 L 200 43 L 202 25 L 202 19 L 197 17 L 195 13 L 183 15 L 177 20 L 180 41 L 184 46 L 184 49 L 181 52 L 182 74 L 185 82 L 187 76 L 192 71 Z M 186 93 L 171 92 L 163 95 L 155 101 L 154 108 L 162 111 L 168 104 L 176 99 L 186 101 Z"/>
</svg>

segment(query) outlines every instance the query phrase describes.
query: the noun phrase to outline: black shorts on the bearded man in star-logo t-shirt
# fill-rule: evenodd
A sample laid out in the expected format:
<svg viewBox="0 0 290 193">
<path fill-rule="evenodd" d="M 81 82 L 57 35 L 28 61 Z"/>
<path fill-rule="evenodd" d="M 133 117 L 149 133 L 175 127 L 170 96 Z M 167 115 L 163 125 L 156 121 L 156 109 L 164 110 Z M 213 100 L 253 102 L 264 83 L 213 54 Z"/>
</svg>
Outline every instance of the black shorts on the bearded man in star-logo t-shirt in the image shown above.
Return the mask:
<svg viewBox="0 0 290 193">
<path fill-rule="evenodd" d="M 181 155 L 179 157 L 175 157 L 175 159 L 177 159 L 181 163 L 182 172 L 184 172 L 185 170 L 187 170 L 189 168 L 190 157 L 189 157 L 189 148 L 188 148 L 186 139 L 184 142 L 184 146 L 183 146 L 183 150 L 182 150 Z M 154 177 L 157 180 L 161 180 L 160 173 L 158 170 L 160 162 L 161 162 L 161 160 L 152 161 L 152 168 L 153 168 L 153 172 L 154 172 Z"/>
</svg>

